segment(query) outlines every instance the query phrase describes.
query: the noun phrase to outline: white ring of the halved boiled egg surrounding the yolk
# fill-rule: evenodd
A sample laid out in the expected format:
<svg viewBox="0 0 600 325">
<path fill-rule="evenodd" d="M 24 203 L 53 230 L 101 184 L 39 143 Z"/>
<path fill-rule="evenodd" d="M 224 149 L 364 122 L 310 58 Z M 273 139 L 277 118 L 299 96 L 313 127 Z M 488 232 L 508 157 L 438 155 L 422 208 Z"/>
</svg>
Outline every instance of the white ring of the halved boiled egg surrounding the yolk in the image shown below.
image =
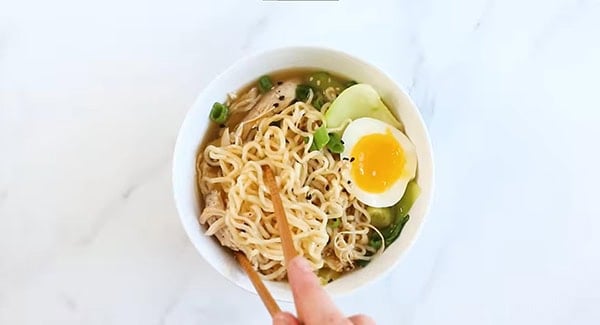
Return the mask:
<svg viewBox="0 0 600 325">
<path fill-rule="evenodd" d="M 350 193 L 356 196 L 362 203 L 376 208 L 392 206 L 400 201 L 404 195 L 406 185 L 415 177 L 417 172 L 417 153 L 415 146 L 400 130 L 385 122 L 370 117 L 363 117 L 350 122 L 342 135 L 344 151 L 342 152 L 341 157 L 342 159 L 350 159 L 352 158 L 351 153 L 354 146 L 361 138 L 369 134 L 386 134 L 387 130 L 390 130 L 396 141 L 400 144 L 400 147 L 404 150 L 405 158 L 401 176 L 392 184 L 392 186 L 381 193 L 368 192 L 358 186 L 357 182 L 352 177 L 350 168 L 344 170 L 344 173 L 346 174 L 345 177 L 352 181 L 352 184 L 349 186 Z"/>
</svg>

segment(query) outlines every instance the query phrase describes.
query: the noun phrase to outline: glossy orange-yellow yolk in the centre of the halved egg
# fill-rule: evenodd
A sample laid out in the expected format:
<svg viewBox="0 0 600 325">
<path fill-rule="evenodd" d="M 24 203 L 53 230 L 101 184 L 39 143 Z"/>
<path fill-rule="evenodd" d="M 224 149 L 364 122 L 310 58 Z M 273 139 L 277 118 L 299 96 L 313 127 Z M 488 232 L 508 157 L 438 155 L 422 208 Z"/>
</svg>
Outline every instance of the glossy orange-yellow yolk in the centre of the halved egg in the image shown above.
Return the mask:
<svg viewBox="0 0 600 325">
<path fill-rule="evenodd" d="M 388 129 L 362 137 L 352 148 L 351 175 L 356 186 L 371 193 L 390 188 L 402 175 L 404 150 Z"/>
</svg>

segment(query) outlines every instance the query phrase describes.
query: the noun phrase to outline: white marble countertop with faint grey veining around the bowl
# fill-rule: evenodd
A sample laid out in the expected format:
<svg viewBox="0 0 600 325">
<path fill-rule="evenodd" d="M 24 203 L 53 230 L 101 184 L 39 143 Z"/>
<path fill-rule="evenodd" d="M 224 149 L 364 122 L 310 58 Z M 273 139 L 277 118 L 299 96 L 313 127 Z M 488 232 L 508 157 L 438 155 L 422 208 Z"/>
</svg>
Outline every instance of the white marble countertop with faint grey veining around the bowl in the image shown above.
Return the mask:
<svg viewBox="0 0 600 325">
<path fill-rule="evenodd" d="M 0 323 L 268 324 L 186 238 L 170 166 L 199 91 L 286 45 L 378 65 L 433 141 L 420 239 L 345 312 L 600 323 L 597 0 L 0 2 Z"/>
</svg>

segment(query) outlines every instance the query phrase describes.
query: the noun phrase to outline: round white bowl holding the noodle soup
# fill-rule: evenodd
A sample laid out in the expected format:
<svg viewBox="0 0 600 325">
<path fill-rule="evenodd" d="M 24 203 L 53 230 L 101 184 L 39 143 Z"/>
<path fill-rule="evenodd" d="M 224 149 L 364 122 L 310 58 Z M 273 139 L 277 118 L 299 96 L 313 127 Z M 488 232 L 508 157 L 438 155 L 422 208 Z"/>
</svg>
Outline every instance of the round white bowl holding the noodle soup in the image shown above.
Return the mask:
<svg viewBox="0 0 600 325">
<path fill-rule="evenodd" d="M 235 63 L 200 93 L 179 130 L 173 157 L 175 204 L 181 223 L 200 255 L 225 278 L 250 292 L 256 292 L 232 253 L 214 238 L 204 235 L 205 228 L 198 223 L 201 206 L 196 190 L 196 154 L 209 126 L 208 113 L 215 101 L 224 101 L 228 92 L 241 88 L 263 74 L 295 67 L 326 70 L 371 84 L 405 124 L 406 133 L 417 149 L 417 182 L 422 193 L 410 211 L 411 218 L 400 237 L 381 256 L 365 268 L 348 273 L 326 286 L 332 295 L 346 294 L 381 278 L 398 264 L 419 234 L 433 193 L 431 143 L 425 124 L 406 92 L 378 68 L 339 51 L 314 47 L 271 50 Z M 292 293 L 286 282 L 265 282 L 275 299 L 292 301 Z"/>
</svg>

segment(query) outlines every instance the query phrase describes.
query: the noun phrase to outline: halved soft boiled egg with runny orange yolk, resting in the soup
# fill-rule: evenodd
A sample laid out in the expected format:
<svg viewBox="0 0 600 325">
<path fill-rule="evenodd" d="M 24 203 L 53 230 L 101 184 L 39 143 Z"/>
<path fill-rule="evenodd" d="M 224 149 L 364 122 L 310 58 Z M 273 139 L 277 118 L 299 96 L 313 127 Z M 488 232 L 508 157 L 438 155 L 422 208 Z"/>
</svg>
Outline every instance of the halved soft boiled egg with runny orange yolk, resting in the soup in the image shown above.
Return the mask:
<svg viewBox="0 0 600 325">
<path fill-rule="evenodd" d="M 395 127 L 370 118 L 356 119 L 342 135 L 342 159 L 350 192 L 362 203 L 383 208 L 396 204 L 417 172 L 415 146 Z"/>
</svg>

